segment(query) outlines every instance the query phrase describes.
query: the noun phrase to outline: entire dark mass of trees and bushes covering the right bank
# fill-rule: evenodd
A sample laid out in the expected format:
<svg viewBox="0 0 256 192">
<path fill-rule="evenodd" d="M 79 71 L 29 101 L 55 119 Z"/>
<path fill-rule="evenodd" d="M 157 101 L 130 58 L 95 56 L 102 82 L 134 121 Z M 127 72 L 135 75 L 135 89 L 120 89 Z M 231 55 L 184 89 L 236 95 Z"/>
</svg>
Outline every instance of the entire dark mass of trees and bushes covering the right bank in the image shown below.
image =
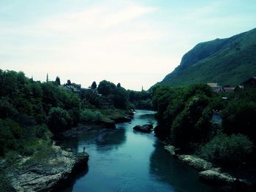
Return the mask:
<svg viewBox="0 0 256 192">
<path fill-rule="evenodd" d="M 255 88 L 217 94 L 204 84 L 156 86 L 153 105 L 159 125 L 155 133 L 182 151 L 194 153 L 200 148 L 200 155 L 216 164 L 241 164 L 256 142 L 255 95 Z M 221 114 L 220 124 L 213 123 L 213 111 Z"/>
</svg>

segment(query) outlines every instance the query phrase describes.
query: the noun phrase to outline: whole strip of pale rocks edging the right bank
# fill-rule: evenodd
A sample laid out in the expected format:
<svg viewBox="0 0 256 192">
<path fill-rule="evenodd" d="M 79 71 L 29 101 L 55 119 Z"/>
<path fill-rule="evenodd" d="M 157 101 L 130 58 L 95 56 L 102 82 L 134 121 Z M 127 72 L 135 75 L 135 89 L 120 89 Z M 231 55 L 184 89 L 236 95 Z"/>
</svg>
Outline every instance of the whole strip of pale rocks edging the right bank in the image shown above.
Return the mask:
<svg viewBox="0 0 256 192">
<path fill-rule="evenodd" d="M 175 158 L 178 158 L 184 164 L 192 166 L 199 171 L 198 176 L 200 180 L 207 183 L 215 183 L 222 185 L 239 185 L 244 186 L 244 188 L 251 188 L 252 183 L 246 180 L 236 178 L 233 175 L 223 172 L 221 168 L 214 166 L 211 162 L 204 160 L 203 158 L 198 158 L 194 155 L 179 155 L 176 153 L 176 147 L 172 145 L 166 145 L 165 151 L 170 153 Z"/>
</svg>

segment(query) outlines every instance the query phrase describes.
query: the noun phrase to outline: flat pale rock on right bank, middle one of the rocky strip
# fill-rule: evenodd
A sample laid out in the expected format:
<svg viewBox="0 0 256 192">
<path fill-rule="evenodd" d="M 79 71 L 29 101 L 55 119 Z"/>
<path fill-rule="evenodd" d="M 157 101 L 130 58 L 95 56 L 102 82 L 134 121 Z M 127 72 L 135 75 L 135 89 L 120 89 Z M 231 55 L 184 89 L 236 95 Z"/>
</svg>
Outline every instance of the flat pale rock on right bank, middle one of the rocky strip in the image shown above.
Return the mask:
<svg viewBox="0 0 256 192">
<path fill-rule="evenodd" d="M 184 164 L 192 166 L 200 171 L 213 168 L 213 165 L 210 162 L 192 155 L 178 155 L 178 159 L 184 162 Z"/>
</svg>

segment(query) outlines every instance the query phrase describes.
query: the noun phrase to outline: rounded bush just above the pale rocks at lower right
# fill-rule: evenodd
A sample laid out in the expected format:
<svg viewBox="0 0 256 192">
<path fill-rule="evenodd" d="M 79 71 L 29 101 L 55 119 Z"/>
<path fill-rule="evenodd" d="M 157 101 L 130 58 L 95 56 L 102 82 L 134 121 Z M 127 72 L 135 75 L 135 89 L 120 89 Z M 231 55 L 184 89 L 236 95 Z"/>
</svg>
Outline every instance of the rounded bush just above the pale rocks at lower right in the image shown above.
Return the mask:
<svg viewBox="0 0 256 192">
<path fill-rule="evenodd" d="M 242 134 L 219 134 L 200 148 L 199 155 L 224 166 L 241 164 L 252 153 L 252 142 Z"/>
</svg>

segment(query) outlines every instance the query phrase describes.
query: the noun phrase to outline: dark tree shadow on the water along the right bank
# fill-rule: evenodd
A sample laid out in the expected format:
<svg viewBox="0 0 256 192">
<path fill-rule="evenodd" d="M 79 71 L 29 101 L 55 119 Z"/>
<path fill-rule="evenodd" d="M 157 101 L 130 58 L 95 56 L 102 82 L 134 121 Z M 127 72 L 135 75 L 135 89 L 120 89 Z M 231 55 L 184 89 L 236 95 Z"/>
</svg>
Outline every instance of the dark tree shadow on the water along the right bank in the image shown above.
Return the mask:
<svg viewBox="0 0 256 192">
<path fill-rule="evenodd" d="M 162 142 L 156 140 L 154 148 L 149 172 L 155 180 L 172 186 L 173 191 L 227 191 L 226 188 L 212 188 L 211 185 L 201 183 L 198 172 L 166 153 Z"/>
</svg>

